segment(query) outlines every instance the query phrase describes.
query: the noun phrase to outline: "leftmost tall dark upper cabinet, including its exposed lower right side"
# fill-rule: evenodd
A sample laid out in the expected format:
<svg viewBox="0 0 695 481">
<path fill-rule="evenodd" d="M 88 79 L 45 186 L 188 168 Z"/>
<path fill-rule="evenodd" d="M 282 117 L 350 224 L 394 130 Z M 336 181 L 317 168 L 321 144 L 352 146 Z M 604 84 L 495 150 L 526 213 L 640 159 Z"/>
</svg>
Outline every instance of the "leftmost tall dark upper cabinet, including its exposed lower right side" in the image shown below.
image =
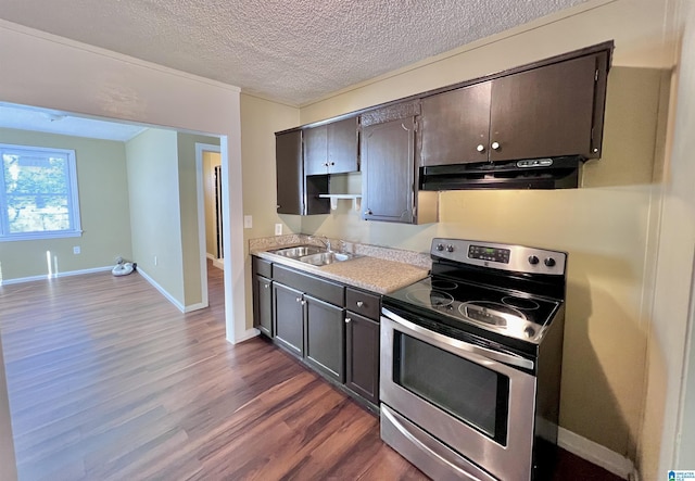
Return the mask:
<svg viewBox="0 0 695 481">
<path fill-rule="evenodd" d="M 328 192 L 328 176 L 306 177 L 302 156 L 302 130 L 275 135 L 278 214 L 328 214 L 330 202 L 319 199 Z"/>
</svg>

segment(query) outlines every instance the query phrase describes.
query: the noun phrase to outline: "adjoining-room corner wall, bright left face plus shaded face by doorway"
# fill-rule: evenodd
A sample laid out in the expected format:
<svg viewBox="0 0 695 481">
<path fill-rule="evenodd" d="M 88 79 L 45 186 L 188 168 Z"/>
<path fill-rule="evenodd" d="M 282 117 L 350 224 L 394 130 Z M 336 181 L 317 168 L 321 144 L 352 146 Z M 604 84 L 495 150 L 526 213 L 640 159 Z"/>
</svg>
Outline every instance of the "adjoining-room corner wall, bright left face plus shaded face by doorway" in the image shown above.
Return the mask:
<svg viewBox="0 0 695 481">
<path fill-rule="evenodd" d="M 148 129 L 126 143 L 135 260 L 187 311 L 204 307 L 195 143 L 219 139 Z"/>
</svg>

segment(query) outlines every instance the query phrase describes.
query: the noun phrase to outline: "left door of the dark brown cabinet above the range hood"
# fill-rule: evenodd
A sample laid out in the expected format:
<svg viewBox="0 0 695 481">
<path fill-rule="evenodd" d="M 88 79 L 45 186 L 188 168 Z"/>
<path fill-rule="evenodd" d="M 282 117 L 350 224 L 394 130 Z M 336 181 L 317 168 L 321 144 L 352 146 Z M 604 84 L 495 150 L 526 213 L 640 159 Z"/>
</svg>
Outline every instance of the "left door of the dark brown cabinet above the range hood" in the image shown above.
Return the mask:
<svg viewBox="0 0 695 481">
<path fill-rule="evenodd" d="M 490 90 L 485 81 L 422 99 L 421 166 L 488 162 Z"/>
</svg>

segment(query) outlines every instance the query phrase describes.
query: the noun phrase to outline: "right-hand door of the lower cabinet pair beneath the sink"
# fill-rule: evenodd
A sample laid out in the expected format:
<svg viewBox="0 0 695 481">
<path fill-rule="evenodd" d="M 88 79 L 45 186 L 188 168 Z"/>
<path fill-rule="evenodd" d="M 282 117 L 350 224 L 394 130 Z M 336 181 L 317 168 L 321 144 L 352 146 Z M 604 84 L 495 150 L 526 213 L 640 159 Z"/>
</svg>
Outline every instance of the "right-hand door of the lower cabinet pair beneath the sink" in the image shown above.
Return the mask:
<svg viewBox="0 0 695 481">
<path fill-rule="evenodd" d="M 305 295 L 306 324 L 304 346 L 306 362 L 338 382 L 345 381 L 345 311 Z"/>
</svg>

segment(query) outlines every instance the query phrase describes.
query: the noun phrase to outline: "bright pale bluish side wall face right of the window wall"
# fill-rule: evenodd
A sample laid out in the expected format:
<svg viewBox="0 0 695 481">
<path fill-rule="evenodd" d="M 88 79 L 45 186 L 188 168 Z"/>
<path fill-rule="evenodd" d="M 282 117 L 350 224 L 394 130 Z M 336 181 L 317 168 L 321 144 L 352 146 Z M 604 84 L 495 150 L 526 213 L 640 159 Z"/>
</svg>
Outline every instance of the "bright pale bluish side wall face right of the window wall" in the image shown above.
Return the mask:
<svg viewBox="0 0 695 481">
<path fill-rule="evenodd" d="M 185 305 L 177 134 L 148 129 L 126 143 L 126 154 L 134 260 Z"/>
</svg>

